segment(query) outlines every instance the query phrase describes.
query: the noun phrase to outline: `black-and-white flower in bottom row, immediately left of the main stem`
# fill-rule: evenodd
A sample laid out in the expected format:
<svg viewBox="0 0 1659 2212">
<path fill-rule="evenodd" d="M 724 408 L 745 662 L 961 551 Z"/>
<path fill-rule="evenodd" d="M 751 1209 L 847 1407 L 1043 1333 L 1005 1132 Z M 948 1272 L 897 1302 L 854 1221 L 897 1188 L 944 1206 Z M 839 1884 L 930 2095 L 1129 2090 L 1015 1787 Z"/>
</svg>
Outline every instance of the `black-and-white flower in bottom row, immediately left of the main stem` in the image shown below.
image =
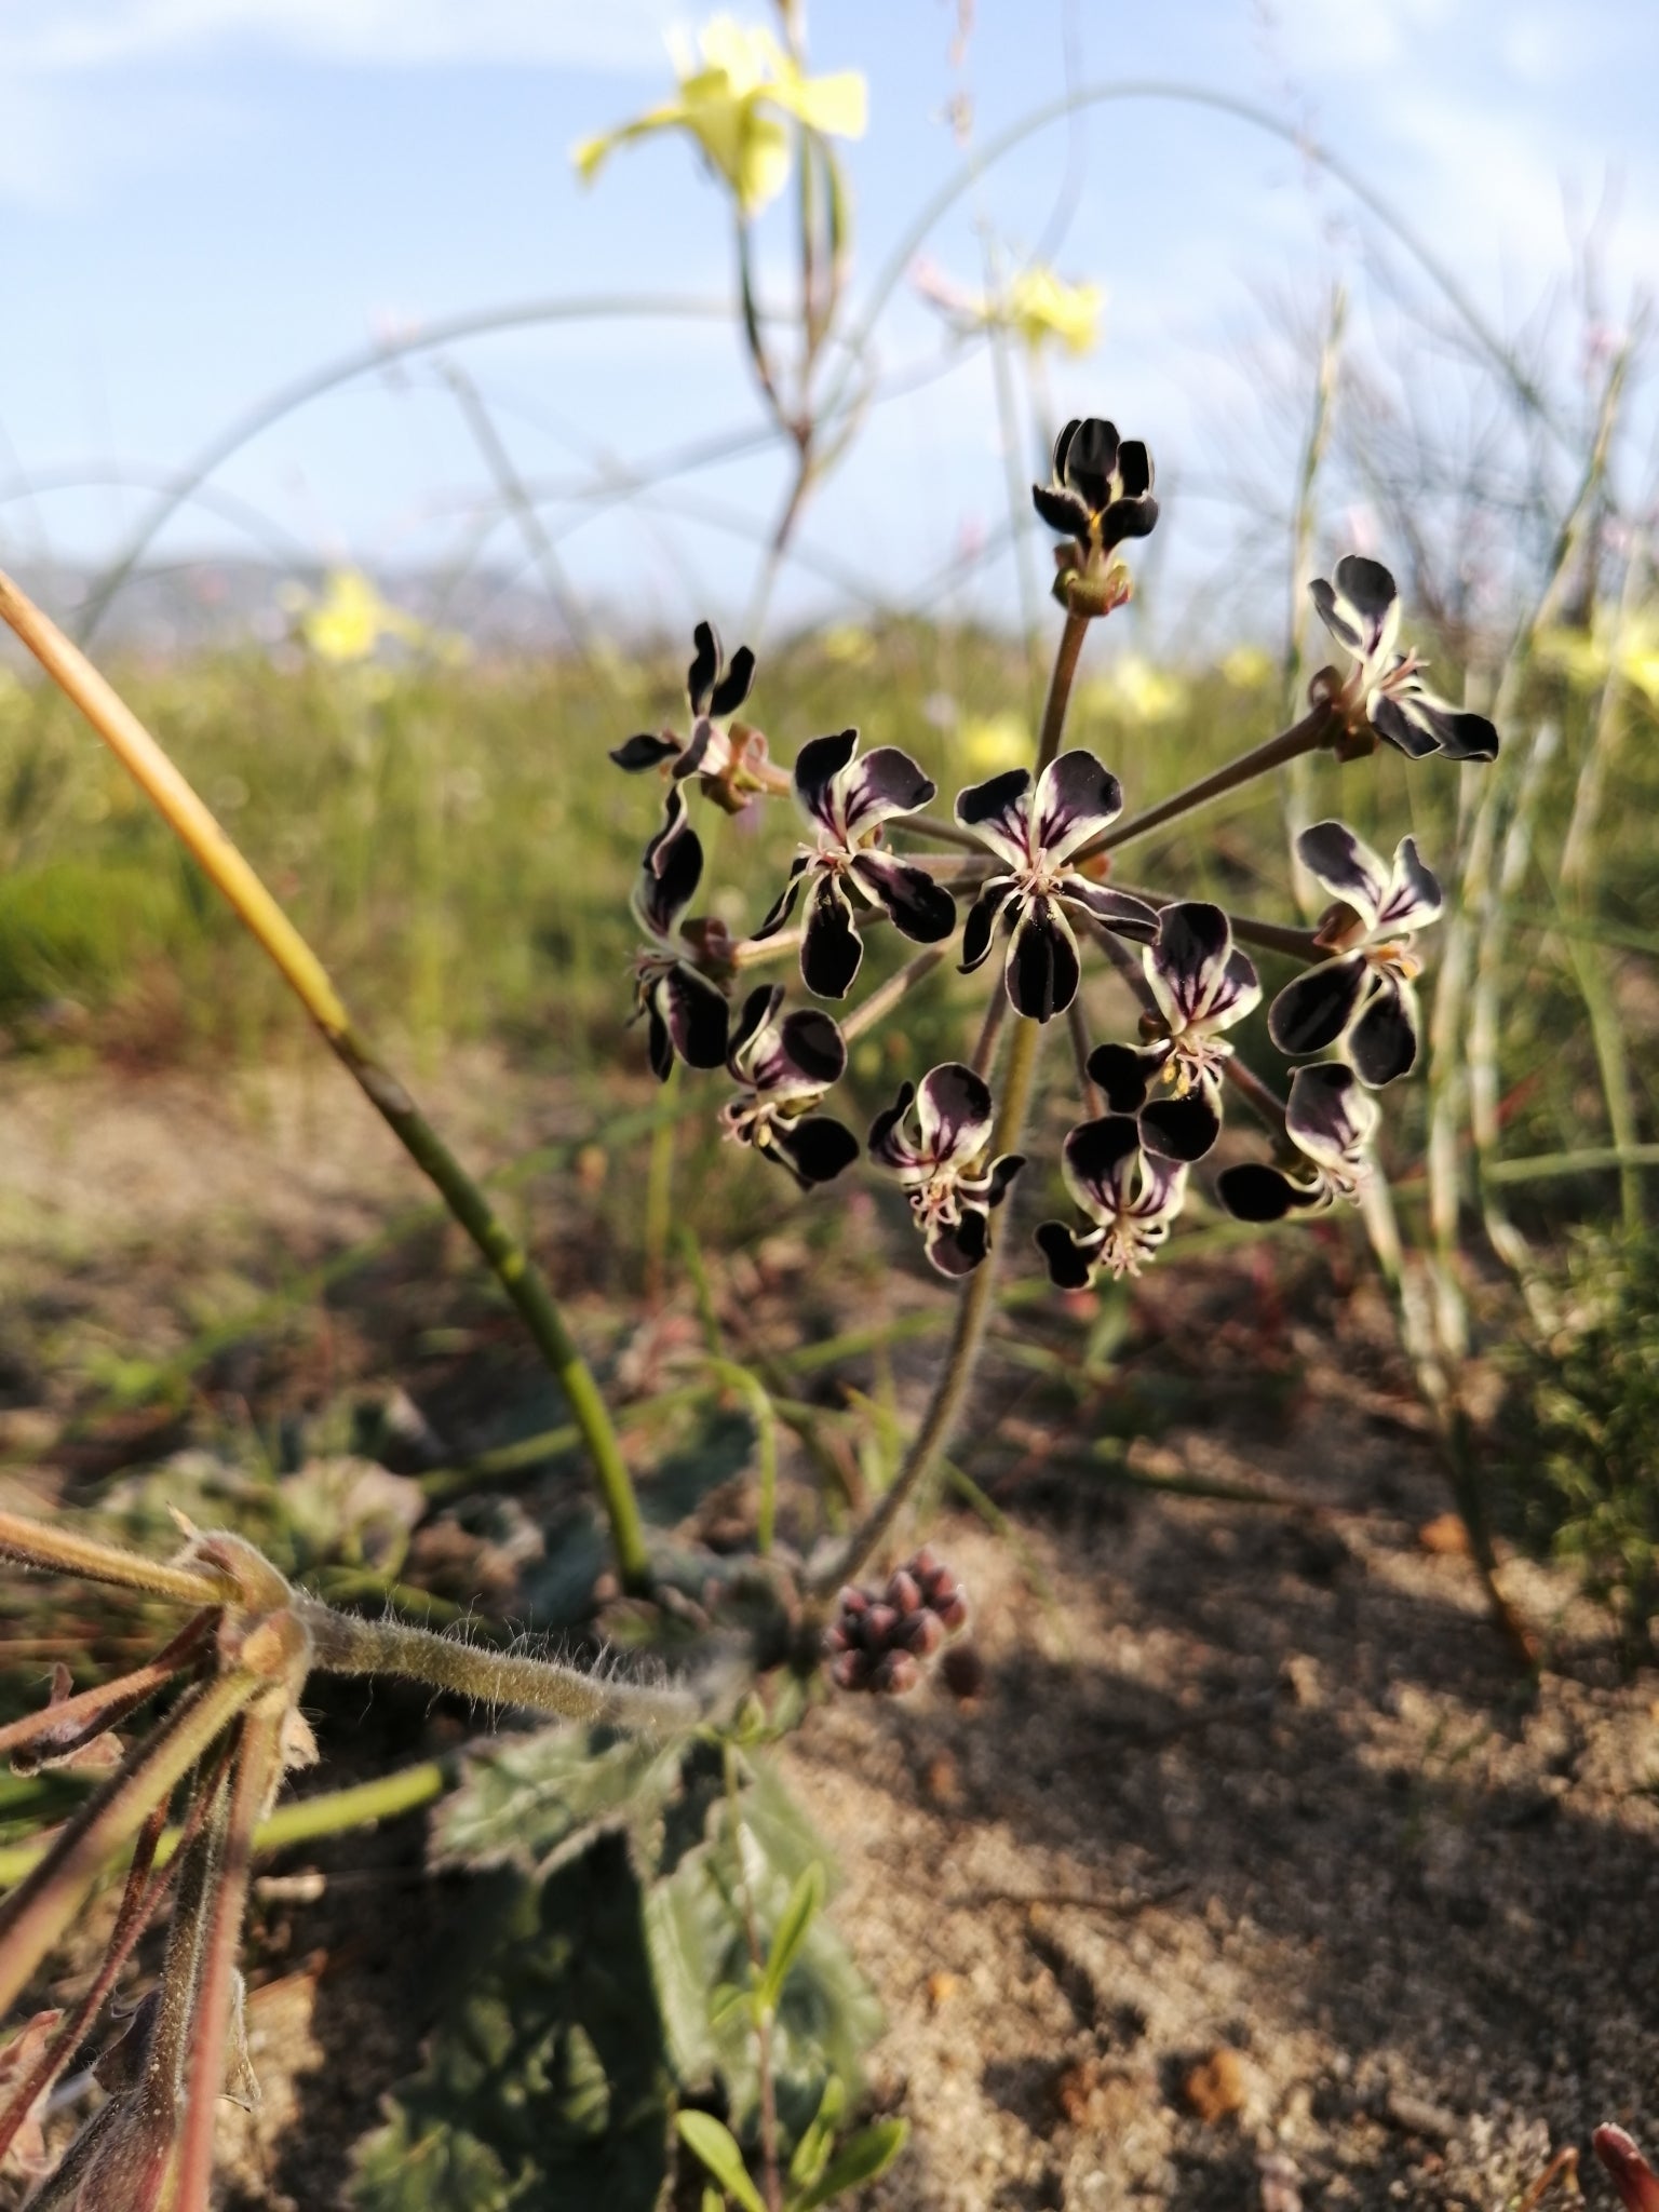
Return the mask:
<svg viewBox="0 0 1659 2212">
<path fill-rule="evenodd" d="M 902 1084 L 869 1130 L 869 1157 L 905 1186 L 909 1210 L 940 1274 L 973 1274 L 991 1250 L 991 1212 L 1024 1159 L 989 1159 L 991 1091 L 958 1060 Z"/>
</svg>

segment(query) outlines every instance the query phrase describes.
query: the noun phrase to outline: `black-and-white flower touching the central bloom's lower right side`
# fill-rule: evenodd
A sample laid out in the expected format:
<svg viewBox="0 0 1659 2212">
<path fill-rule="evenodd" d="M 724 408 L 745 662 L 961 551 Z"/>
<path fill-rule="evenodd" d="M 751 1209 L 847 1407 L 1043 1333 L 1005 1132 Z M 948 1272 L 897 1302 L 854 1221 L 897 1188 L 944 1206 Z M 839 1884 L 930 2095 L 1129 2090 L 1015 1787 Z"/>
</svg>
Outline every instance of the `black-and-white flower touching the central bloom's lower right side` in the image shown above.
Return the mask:
<svg viewBox="0 0 1659 2212">
<path fill-rule="evenodd" d="M 1157 1009 L 1141 1018 L 1146 1042 L 1097 1044 L 1088 1075 L 1115 1115 L 1139 1115 L 1148 1150 L 1203 1159 L 1221 1135 L 1221 1071 L 1232 1057 L 1219 1033 L 1243 1022 L 1261 982 L 1234 949 L 1228 916 L 1201 898 L 1164 907 L 1141 967 Z"/>
</svg>

